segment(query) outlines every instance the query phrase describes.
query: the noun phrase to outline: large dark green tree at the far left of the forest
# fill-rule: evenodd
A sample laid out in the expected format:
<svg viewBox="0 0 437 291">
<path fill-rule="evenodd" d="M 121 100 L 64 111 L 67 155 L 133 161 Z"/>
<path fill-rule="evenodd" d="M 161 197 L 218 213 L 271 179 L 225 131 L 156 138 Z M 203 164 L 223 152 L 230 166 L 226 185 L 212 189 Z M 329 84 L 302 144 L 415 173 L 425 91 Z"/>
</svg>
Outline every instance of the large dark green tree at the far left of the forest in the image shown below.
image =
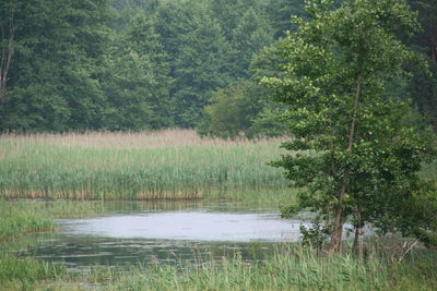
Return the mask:
<svg viewBox="0 0 437 291">
<path fill-rule="evenodd" d="M 1 130 L 98 129 L 105 101 L 98 68 L 108 45 L 107 1 L 1 3 L 14 4 L 14 54 L 9 97 L 0 108 Z"/>
</svg>

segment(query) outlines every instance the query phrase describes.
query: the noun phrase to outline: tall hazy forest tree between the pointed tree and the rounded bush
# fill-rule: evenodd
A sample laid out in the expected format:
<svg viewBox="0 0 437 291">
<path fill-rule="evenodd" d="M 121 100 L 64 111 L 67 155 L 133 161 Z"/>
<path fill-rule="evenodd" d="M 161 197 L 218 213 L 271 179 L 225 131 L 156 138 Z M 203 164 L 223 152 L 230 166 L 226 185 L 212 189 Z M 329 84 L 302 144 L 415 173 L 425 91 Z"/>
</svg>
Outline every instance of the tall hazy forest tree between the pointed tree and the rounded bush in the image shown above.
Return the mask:
<svg viewBox="0 0 437 291">
<path fill-rule="evenodd" d="M 231 47 L 206 4 L 165 3 L 156 14 L 156 32 L 172 64 L 175 121 L 182 128 L 193 128 L 201 120 L 211 92 L 232 81 L 227 65 Z"/>
</svg>

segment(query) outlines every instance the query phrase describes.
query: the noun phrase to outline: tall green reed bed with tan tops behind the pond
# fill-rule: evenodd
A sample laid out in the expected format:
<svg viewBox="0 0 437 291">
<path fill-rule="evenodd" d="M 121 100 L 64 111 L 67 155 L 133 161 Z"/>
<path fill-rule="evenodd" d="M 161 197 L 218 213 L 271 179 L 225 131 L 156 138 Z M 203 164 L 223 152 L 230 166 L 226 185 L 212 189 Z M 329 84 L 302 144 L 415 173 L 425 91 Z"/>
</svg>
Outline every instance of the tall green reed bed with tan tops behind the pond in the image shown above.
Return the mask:
<svg viewBox="0 0 437 291">
<path fill-rule="evenodd" d="M 0 196 L 154 199 L 284 190 L 284 138 L 223 141 L 193 131 L 3 135 Z"/>
</svg>

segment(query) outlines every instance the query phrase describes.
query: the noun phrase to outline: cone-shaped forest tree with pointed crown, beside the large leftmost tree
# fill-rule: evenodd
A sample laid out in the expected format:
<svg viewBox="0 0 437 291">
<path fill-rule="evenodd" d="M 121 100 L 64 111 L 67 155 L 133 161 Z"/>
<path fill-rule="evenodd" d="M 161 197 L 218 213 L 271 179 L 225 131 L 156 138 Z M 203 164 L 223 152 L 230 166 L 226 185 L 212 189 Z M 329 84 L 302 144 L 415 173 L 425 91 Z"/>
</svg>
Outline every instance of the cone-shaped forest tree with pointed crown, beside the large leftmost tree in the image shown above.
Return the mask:
<svg viewBox="0 0 437 291">
<path fill-rule="evenodd" d="M 104 126 L 113 131 L 173 125 L 168 64 L 153 23 L 137 14 L 107 60 Z"/>
</svg>

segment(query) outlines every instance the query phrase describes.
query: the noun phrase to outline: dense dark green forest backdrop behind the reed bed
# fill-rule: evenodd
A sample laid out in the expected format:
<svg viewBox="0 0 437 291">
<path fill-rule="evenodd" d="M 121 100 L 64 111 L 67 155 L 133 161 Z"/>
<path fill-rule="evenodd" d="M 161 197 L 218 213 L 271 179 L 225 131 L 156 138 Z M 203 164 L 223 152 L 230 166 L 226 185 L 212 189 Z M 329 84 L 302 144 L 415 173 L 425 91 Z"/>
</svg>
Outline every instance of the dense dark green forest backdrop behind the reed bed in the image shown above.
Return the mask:
<svg viewBox="0 0 437 291">
<path fill-rule="evenodd" d="M 2 0 L 0 131 L 282 134 L 283 108 L 259 78 L 279 74 L 303 2 Z M 410 65 L 387 96 L 412 98 L 437 126 L 437 5 L 410 2 L 422 31 L 403 41 L 429 70 Z"/>
</svg>

